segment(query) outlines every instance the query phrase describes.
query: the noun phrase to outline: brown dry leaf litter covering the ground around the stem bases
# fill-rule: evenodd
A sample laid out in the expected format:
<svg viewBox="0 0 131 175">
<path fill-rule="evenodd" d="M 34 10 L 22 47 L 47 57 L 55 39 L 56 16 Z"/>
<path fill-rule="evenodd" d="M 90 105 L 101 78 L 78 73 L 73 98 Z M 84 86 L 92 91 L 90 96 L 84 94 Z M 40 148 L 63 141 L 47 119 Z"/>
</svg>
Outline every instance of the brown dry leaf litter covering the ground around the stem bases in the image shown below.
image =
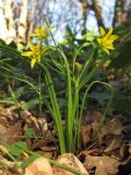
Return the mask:
<svg viewBox="0 0 131 175">
<path fill-rule="evenodd" d="M 106 120 L 98 131 L 100 113 L 94 110 L 88 114 L 87 124 L 83 122 L 81 129 L 81 151 L 75 155 L 67 153 L 59 156 L 56 128 L 47 122 L 45 115 L 21 110 L 19 117 L 13 107 L 0 106 L 0 142 L 3 143 L 0 145 L 0 174 L 72 175 L 76 171 L 86 175 L 131 173 L 130 122 L 122 125 L 115 116 Z M 11 148 L 22 145 L 22 142 L 27 148 L 24 150 L 20 147 L 22 151 L 12 159 Z M 33 154 L 40 158 L 28 161 Z M 51 163 L 50 159 L 76 171 L 63 170 Z M 23 162 L 26 166 L 22 167 Z"/>
</svg>

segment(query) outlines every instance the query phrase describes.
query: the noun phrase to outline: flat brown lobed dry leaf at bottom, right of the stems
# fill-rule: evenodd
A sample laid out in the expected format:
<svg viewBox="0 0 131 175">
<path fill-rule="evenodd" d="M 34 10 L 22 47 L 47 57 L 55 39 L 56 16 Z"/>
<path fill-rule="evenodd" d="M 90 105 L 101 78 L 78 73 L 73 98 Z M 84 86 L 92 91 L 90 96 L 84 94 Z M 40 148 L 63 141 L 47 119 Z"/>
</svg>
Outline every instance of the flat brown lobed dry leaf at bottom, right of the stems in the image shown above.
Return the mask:
<svg viewBox="0 0 131 175">
<path fill-rule="evenodd" d="M 85 167 L 91 171 L 96 167 L 95 175 L 117 175 L 119 161 L 109 156 L 92 156 L 85 158 Z"/>
</svg>

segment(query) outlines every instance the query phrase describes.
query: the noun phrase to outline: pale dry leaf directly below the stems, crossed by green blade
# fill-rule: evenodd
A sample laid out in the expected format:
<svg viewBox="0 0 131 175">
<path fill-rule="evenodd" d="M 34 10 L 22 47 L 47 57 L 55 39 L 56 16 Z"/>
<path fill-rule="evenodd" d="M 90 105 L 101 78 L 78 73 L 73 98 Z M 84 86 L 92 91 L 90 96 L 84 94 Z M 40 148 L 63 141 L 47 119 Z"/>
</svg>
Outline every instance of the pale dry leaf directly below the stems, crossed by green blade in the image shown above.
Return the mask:
<svg viewBox="0 0 131 175">
<path fill-rule="evenodd" d="M 74 170 L 78 170 L 81 173 L 84 173 L 85 175 L 88 175 L 88 173 L 85 170 L 85 167 L 83 166 L 83 164 L 72 153 L 64 153 L 64 154 L 60 155 L 57 161 L 61 164 L 73 167 Z M 71 173 L 69 171 L 64 171 L 64 170 L 56 167 L 56 166 L 53 167 L 53 173 L 55 173 L 55 175 L 74 175 L 73 173 Z"/>
</svg>

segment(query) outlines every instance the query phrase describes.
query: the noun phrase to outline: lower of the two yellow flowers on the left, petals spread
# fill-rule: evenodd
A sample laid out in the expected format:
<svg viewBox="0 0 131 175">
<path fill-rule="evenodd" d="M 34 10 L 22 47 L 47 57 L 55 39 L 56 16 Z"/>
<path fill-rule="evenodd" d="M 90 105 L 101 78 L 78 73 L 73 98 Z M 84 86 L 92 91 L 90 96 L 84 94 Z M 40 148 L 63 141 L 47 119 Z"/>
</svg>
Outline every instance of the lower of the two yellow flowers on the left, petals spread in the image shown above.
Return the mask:
<svg viewBox="0 0 131 175">
<path fill-rule="evenodd" d="M 31 68 L 33 69 L 36 62 L 40 62 L 41 55 L 48 50 L 49 47 L 41 47 L 40 44 L 33 45 L 31 42 L 28 43 L 31 51 L 22 52 L 22 56 L 29 57 L 31 60 Z"/>
</svg>

